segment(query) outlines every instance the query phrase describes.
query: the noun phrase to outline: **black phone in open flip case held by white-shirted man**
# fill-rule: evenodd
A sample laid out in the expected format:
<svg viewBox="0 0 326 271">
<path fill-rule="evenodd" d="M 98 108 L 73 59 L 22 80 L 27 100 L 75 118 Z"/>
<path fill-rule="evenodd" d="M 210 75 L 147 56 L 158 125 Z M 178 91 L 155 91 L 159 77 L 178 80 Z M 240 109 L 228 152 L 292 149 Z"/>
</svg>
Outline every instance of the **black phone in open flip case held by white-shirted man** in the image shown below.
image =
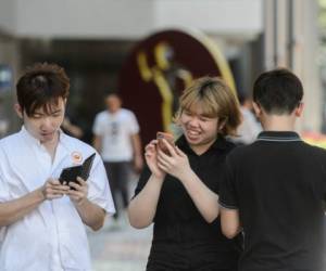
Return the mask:
<svg viewBox="0 0 326 271">
<path fill-rule="evenodd" d="M 63 168 L 61 171 L 61 175 L 59 177 L 59 181 L 62 184 L 63 183 L 68 184 L 70 182 L 77 182 L 78 176 L 86 181 L 89 177 L 89 172 L 90 172 L 95 156 L 96 156 L 96 153 L 93 153 L 92 155 L 87 157 L 84 160 L 83 165 Z"/>
</svg>

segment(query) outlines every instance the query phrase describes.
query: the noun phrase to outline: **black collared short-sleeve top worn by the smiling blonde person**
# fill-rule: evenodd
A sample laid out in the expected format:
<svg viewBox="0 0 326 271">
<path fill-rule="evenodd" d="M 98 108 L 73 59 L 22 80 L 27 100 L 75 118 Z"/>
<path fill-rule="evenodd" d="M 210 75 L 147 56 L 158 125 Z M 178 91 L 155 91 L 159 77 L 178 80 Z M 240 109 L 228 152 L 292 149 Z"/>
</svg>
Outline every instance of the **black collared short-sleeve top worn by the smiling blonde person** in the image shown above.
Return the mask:
<svg viewBox="0 0 326 271">
<path fill-rule="evenodd" d="M 218 193 L 222 164 L 235 145 L 224 138 L 218 138 L 201 155 L 197 155 L 189 147 L 184 137 L 176 142 L 176 145 L 187 154 L 190 167 L 197 176 L 209 189 Z M 135 195 L 142 190 L 150 175 L 150 170 L 146 168 L 140 176 Z M 162 185 L 154 217 L 150 260 L 158 258 L 173 264 L 173 259 L 176 258 L 176 262 L 184 261 L 186 266 L 191 266 L 191 262 L 199 257 L 211 257 L 214 261 L 221 262 L 221 267 L 228 268 L 237 264 L 239 247 L 239 243 L 235 240 L 229 241 L 223 236 L 220 217 L 209 224 L 200 215 L 181 182 L 167 175 Z"/>
</svg>

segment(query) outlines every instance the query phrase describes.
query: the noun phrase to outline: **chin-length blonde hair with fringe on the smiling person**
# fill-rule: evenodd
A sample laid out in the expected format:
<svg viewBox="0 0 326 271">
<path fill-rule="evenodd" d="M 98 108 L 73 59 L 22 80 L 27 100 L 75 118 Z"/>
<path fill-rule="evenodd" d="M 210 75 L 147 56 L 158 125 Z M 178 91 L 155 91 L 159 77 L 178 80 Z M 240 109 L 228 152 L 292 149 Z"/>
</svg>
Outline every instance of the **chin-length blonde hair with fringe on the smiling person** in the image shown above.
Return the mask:
<svg viewBox="0 0 326 271">
<path fill-rule="evenodd" d="M 241 122 L 239 101 L 231 89 L 218 77 L 201 77 L 184 90 L 179 98 L 179 109 L 175 114 L 174 121 L 179 122 L 185 109 L 190 111 L 193 105 L 201 104 L 203 115 L 217 117 L 223 127 L 218 133 L 223 136 L 236 136 L 237 127 Z"/>
</svg>

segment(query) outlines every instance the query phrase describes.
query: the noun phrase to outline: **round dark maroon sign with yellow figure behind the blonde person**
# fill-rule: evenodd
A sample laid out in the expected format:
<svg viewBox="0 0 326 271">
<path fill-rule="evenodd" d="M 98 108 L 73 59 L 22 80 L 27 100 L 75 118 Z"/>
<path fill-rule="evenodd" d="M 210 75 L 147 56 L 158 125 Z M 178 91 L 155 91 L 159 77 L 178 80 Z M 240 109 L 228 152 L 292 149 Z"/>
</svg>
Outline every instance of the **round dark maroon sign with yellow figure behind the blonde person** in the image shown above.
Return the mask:
<svg viewBox="0 0 326 271">
<path fill-rule="evenodd" d="M 201 33 L 164 30 L 136 44 L 120 72 L 118 90 L 125 107 L 146 128 L 142 142 L 156 131 L 175 133 L 171 124 L 178 98 L 192 79 L 202 76 L 220 76 L 235 91 L 228 63 L 217 44 Z"/>
</svg>

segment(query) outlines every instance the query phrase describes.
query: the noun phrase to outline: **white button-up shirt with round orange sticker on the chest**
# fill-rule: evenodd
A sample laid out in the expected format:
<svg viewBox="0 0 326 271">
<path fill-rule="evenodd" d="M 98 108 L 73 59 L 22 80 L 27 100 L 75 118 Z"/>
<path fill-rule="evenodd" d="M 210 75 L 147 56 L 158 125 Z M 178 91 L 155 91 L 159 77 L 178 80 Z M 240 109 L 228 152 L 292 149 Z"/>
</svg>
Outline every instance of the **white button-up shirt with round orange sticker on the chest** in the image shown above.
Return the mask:
<svg viewBox="0 0 326 271">
<path fill-rule="evenodd" d="M 0 141 L 0 203 L 12 201 L 59 178 L 62 168 L 79 165 L 96 151 L 63 132 L 52 163 L 45 146 L 23 127 Z M 97 154 L 88 199 L 114 214 L 103 163 Z M 68 196 L 46 201 L 17 222 L 2 227 L 0 269 L 3 271 L 90 271 L 84 223 Z"/>
</svg>

